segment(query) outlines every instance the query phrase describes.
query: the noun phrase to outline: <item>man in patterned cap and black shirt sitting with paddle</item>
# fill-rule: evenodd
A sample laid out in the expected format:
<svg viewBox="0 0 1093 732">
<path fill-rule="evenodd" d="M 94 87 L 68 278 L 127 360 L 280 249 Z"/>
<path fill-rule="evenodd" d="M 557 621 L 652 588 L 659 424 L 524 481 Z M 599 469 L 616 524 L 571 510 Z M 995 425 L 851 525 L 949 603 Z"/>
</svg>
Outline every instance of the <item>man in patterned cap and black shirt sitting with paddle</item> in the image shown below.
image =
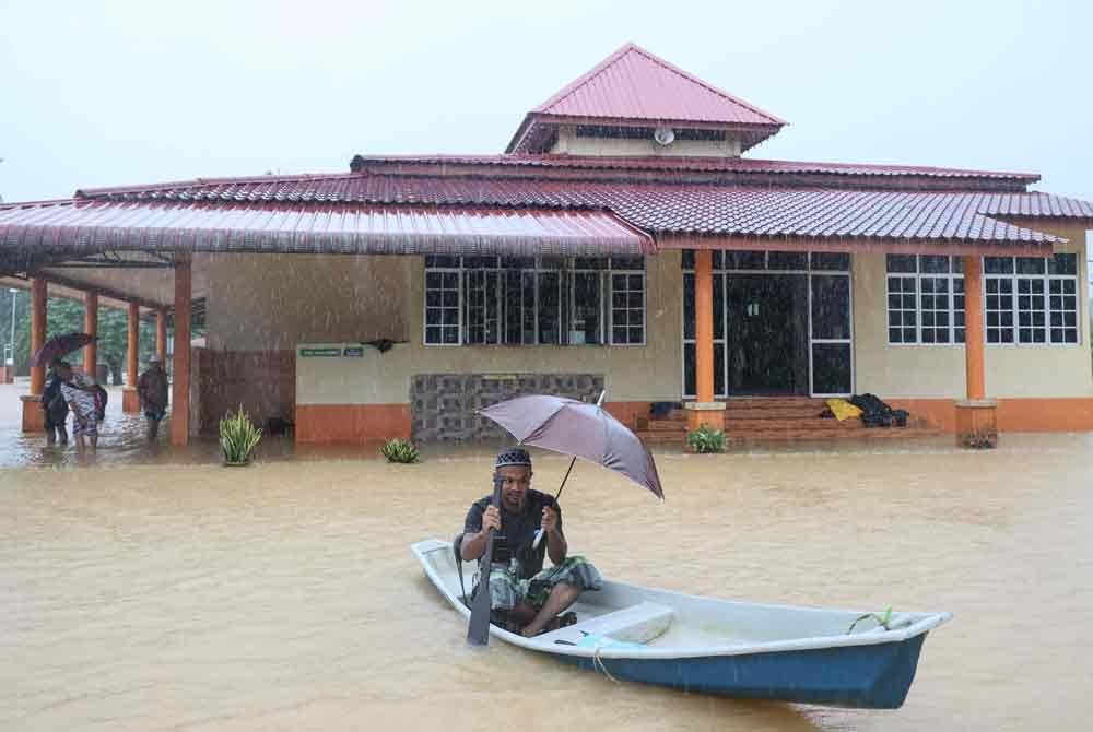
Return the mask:
<svg viewBox="0 0 1093 732">
<path fill-rule="evenodd" d="M 502 480 L 501 506 L 492 505 L 492 495 L 474 501 L 460 543 L 463 560 L 474 562 L 485 552 L 489 530 L 496 532 L 490 571 L 494 617 L 527 637 L 576 623 L 576 614 L 565 611 L 585 590 L 600 589 L 600 572 L 584 557 L 568 556 L 562 509 L 553 496 L 531 489 L 527 450 L 502 450 L 494 471 Z M 532 548 L 539 529 L 544 538 Z M 542 568 L 546 554 L 554 564 L 550 569 Z"/>
</svg>

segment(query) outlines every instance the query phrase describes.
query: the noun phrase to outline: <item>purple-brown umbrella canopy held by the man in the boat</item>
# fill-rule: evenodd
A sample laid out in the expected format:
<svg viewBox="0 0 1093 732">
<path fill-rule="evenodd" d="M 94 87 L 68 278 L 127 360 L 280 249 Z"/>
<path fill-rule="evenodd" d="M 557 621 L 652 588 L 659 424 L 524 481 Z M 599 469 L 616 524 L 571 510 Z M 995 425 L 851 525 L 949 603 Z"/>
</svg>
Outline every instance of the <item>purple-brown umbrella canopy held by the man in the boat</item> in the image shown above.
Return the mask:
<svg viewBox="0 0 1093 732">
<path fill-rule="evenodd" d="M 480 410 L 521 445 L 541 447 L 621 473 L 665 499 L 653 456 L 637 435 L 599 404 L 564 397 L 517 397 Z"/>
</svg>

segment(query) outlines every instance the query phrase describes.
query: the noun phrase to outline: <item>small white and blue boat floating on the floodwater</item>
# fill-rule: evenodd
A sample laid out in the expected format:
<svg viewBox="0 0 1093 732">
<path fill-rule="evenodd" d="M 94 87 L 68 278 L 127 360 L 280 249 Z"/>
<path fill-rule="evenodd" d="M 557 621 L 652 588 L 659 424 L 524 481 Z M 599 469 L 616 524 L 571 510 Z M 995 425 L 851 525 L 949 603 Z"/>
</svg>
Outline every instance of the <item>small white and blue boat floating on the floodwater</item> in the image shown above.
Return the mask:
<svg viewBox="0 0 1093 732">
<path fill-rule="evenodd" d="M 468 619 L 451 543 L 412 545 L 447 601 Z M 478 565 L 463 563 L 467 591 Z M 950 613 L 855 621 L 853 610 L 765 605 L 604 581 L 572 607 L 578 622 L 525 638 L 490 636 L 615 680 L 755 699 L 895 709 L 907 696 L 929 630 Z"/>
</svg>

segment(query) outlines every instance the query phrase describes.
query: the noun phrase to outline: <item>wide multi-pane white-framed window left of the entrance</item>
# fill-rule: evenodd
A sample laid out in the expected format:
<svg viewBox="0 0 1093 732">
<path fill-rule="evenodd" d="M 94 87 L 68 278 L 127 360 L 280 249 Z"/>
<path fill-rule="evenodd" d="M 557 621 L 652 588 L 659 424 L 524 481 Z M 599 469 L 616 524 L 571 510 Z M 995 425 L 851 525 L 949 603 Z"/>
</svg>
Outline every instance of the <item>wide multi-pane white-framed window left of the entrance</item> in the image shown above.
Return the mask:
<svg viewBox="0 0 1093 732">
<path fill-rule="evenodd" d="M 644 258 L 426 257 L 425 343 L 644 344 Z"/>
</svg>

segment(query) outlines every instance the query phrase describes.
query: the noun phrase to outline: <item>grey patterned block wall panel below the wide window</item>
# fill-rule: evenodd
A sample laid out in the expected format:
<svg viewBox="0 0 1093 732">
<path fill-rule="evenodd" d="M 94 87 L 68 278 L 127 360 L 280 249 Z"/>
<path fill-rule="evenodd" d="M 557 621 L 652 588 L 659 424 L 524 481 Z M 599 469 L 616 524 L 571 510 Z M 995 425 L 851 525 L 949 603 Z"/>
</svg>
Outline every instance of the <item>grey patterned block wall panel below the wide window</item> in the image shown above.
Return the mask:
<svg viewBox="0 0 1093 732">
<path fill-rule="evenodd" d="M 506 433 L 475 410 L 525 394 L 595 402 L 602 389 L 602 374 L 418 374 L 410 380 L 413 439 L 494 439 Z"/>
</svg>

